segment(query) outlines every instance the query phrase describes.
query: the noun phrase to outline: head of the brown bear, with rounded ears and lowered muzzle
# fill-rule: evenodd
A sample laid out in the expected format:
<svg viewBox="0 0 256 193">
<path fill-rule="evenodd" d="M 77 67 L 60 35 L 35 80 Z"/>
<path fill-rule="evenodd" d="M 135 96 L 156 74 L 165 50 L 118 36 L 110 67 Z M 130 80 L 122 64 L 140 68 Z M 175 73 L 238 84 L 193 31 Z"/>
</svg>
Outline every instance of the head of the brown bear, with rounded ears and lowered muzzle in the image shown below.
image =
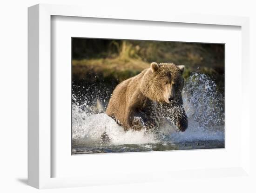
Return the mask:
<svg viewBox="0 0 256 193">
<path fill-rule="evenodd" d="M 151 63 L 150 68 L 143 75 L 140 84 L 141 93 L 158 103 L 182 101 L 183 71 L 183 65 Z"/>
</svg>

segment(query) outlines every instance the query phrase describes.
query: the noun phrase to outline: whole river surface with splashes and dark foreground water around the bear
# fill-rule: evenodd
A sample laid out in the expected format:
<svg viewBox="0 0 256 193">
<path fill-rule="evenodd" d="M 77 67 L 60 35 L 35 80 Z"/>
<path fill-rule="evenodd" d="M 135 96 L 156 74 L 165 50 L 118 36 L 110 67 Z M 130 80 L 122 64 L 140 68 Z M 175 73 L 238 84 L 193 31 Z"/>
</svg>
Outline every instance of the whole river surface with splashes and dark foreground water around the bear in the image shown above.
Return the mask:
<svg viewBox="0 0 256 193">
<path fill-rule="evenodd" d="M 73 93 L 72 154 L 224 148 L 224 96 L 204 74 L 194 73 L 185 82 L 183 106 L 189 120 L 185 132 L 176 132 L 168 122 L 157 134 L 144 130 L 126 132 L 104 114 L 106 100 L 97 97 L 101 92 L 104 91 Z M 84 100 L 77 100 L 81 97 Z M 91 98 L 96 99 L 95 103 L 89 103 Z M 108 135 L 108 142 L 102 141 L 103 134 Z"/>
</svg>

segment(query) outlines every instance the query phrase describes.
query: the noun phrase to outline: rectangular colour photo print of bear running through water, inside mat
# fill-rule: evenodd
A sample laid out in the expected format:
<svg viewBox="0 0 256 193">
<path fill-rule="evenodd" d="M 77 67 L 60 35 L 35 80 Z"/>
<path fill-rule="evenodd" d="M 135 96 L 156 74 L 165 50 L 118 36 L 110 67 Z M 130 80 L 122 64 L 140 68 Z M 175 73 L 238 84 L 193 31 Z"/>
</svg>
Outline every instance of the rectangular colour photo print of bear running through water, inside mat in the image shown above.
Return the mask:
<svg viewBox="0 0 256 193">
<path fill-rule="evenodd" d="M 224 148 L 224 50 L 72 38 L 72 154 Z"/>
</svg>

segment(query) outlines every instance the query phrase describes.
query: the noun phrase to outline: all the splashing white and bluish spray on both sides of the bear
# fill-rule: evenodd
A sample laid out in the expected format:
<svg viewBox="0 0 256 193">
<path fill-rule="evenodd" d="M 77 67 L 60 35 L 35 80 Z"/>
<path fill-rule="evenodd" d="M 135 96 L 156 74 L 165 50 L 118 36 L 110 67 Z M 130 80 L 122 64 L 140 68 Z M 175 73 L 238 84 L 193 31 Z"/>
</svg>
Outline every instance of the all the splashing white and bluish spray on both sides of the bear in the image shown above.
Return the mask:
<svg viewBox="0 0 256 193">
<path fill-rule="evenodd" d="M 183 133 L 176 132 L 175 126 L 169 122 L 162 125 L 157 135 L 145 130 L 125 132 L 112 118 L 100 113 L 106 109 L 110 95 L 102 98 L 97 95 L 99 92 L 102 93 L 95 90 L 91 94 L 73 95 L 73 147 L 102 147 L 101 135 L 104 132 L 110 139 L 108 146 L 144 144 L 141 145 L 144 149 L 152 149 L 150 144 L 157 143 L 224 141 L 224 96 L 218 92 L 215 82 L 205 74 L 194 73 L 185 82 L 183 106 L 189 128 Z"/>
</svg>

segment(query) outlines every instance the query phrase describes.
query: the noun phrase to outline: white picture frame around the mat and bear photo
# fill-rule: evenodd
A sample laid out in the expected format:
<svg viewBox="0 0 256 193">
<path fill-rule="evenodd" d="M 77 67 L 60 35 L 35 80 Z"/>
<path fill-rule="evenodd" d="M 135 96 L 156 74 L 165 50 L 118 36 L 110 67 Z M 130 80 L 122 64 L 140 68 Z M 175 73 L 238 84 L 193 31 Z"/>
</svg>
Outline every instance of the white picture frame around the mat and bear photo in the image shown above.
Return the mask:
<svg viewBox="0 0 256 193">
<path fill-rule="evenodd" d="M 86 11 L 85 11 L 86 10 Z M 111 13 L 111 14 L 110 14 Z M 36 188 L 55 187 L 78 187 L 100 184 L 118 184 L 131 182 L 150 182 L 164 179 L 173 179 L 177 176 L 191 174 L 191 171 L 154 171 L 154 175 L 147 172 L 124 173 L 121 176 L 106 178 L 104 174 L 88 175 L 83 177 L 52 177 L 51 168 L 55 167 L 51 161 L 51 16 L 104 18 L 104 19 L 129 19 L 156 22 L 175 22 L 203 25 L 240 26 L 242 31 L 242 105 L 239 114 L 243 131 L 241 133 L 241 161 L 236 167 L 205 168 L 193 171 L 193 175 L 215 176 L 223 178 L 229 176 L 250 176 L 249 169 L 249 93 L 248 84 L 249 71 L 249 18 L 236 16 L 216 15 L 183 15 L 176 13 L 151 14 L 140 13 L 130 14 L 129 12 L 112 12 L 103 10 L 95 13 L 94 9 L 82 6 L 62 6 L 38 4 L 28 8 L 28 185 Z M 71 129 L 71 128 L 70 128 Z M 70 154 L 71 156 L 71 154 Z M 101 159 L 104 157 L 101 156 Z M 117 155 L 113 155 L 117 156 Z M 120 156 L 120 155 L 119 155 Z M 139 156 L 139 154 L 130 156 Z M 225 174 L 225 175 L 223 175 Z M 159 178 L 159 176 L 162 176 Z"/>
</svg>

